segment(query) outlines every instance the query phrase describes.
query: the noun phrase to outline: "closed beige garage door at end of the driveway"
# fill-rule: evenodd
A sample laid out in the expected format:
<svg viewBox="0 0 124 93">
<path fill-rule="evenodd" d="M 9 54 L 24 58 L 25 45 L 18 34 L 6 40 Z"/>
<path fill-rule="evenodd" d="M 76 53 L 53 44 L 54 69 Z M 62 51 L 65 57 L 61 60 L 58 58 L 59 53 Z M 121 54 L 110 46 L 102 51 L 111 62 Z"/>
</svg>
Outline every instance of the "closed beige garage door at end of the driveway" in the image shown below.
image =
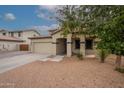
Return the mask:
<svg viewBox="0 0 124 93">
<path fill-rule="evenodd" d="M 52 54 L 51 43 L 34 43 L 34 52 L 42 54 Z"/>
</svg>

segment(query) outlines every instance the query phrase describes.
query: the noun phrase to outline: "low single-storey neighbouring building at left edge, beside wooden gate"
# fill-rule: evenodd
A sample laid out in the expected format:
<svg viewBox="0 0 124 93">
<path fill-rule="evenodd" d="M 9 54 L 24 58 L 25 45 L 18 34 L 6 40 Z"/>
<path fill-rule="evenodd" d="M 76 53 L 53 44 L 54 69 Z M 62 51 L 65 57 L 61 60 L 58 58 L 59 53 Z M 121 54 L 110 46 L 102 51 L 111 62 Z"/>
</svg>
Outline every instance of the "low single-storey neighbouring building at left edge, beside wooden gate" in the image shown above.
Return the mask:
<svg viewBox="0 0 124 93">
<path fill-rule="evenodd" d="M 0 36 L 0 51 L 17 51 L 23 42 L 23 40 L 15 37 Z"/>
</svg>

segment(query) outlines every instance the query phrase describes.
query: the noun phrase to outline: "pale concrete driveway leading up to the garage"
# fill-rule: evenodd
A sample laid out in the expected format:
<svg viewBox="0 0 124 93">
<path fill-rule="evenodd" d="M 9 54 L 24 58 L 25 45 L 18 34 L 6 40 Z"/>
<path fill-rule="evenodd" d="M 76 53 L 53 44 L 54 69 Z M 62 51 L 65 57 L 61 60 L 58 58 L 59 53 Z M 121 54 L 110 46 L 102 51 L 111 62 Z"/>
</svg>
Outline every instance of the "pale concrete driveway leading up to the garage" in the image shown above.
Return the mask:
<svg viewBox="0 0 124 93">
<path fill-rule="evenodd" d="M 0 53 L 0 73 L 31 63 L 38 59 L 47 58 L 48 54 L 34 54 L 30 52 L 4 52 Z"/>
</svg>

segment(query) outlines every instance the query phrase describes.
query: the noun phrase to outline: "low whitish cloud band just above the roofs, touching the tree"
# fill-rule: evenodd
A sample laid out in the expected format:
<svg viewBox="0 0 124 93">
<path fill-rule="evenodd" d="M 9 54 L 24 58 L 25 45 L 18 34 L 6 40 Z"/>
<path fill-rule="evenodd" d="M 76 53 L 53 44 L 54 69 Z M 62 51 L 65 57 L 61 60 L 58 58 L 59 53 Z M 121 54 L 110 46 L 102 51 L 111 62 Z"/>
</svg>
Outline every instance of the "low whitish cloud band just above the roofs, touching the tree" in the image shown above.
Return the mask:
<svg viewBox="0 0 124 93">
<path fill-rule="evenodd" d="M 58 27 L 59 27 L 58 24 L 52 24 L 50 26 L 47 25 L 32 26 L 31 28 L 38 30 L 41 33 L 41 35 L 48 35 L 48 30 L 57 29 Z"/>
</svg>

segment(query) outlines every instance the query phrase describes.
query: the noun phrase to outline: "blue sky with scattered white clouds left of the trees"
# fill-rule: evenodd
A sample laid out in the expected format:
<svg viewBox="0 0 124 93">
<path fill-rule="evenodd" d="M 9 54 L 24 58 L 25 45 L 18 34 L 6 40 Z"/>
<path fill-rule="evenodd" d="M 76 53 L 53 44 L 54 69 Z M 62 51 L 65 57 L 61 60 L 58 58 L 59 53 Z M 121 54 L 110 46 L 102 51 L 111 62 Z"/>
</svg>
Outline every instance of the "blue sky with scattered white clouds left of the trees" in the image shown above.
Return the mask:
<svg viewBox="0 0 124 93">
<path fill-rule="evenodd" d="M 55 29 L 58 25 L 55 19 L 56 6 L 35 5 L 0 5 L 0 29 L 20 30 L 37 29 L 43 34 Z"/>
</svg>

